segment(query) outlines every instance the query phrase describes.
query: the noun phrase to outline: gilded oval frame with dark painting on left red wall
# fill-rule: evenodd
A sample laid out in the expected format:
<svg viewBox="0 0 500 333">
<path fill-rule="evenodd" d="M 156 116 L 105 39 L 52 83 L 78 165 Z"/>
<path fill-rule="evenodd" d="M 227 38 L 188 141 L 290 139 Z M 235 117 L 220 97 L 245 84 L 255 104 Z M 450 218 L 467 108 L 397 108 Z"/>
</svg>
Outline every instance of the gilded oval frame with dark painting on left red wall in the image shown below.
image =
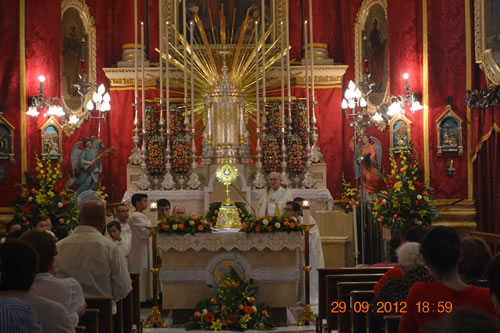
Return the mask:
<svg viewBox="0 0 500 333">
<path fill-rule="evenodd" d="M 61 100 L 65 116 L 61 117 L 66 135 L 88 119 L 86 108 L 92 94 L 82 97 L 75 84 L 85 71 L 88 83 L 96 85 L 96 28 L 95 21 L 85 0 L 63 0 L 61 3 L 62 70 Z M 69 124 L 70 116 L 78 117 L 76 124 Z"/>
</svg>

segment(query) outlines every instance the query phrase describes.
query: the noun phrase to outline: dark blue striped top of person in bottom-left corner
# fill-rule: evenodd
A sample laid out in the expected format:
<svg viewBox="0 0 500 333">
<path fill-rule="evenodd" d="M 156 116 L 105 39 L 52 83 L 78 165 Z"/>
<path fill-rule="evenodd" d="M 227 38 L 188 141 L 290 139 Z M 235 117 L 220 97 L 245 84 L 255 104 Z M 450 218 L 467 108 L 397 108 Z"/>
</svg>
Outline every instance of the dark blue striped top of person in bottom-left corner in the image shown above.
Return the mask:
<svg viewBox="0 0 500 333">
<path fill-rule="evenodd" d="M 0 297 L 0 318 L 0 332 L 42 333 L 31 305 L 15 297 Z"/>
</svg>

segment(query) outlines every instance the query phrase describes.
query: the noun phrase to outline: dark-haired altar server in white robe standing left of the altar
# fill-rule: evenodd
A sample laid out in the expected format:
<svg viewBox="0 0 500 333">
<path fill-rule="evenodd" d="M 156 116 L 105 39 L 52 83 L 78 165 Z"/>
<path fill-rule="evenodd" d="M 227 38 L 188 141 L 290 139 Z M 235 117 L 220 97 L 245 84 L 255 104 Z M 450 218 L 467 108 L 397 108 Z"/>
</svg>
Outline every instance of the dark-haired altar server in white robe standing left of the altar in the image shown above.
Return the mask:
<svg viewBox="0 0 500 333">
<path fill-rule="evenodd" d="M 140 274 L 141 302 L 152 298 L 149 269 L 152 263 L 151 232 L 147 227 L 151 221 L 146 216 L 148 196 L 136 193 L 132 196 L 132 206 L 135 212 L 130 215 L 128 223 L 132 233 L 130 252 L 128 255 L 128 270 L 130 273 Z"/>
</svg>

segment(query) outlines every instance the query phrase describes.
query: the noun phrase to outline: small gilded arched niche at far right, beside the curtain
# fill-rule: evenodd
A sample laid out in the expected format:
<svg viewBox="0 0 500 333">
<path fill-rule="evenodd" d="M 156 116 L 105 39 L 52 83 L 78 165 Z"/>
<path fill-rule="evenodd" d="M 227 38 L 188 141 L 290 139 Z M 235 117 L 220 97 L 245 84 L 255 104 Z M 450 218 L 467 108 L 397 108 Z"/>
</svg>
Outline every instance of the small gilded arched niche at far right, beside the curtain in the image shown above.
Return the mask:
<svg viewBox="0 0 500 333">
<path fill-rule="evenodd" d="M 464 153 L 462 144 L 462 118 L 453 111 L 451 105 L 446 106 L 446 110 L 436 119 L 437 131 L 437 155 L 455 152 L 459 156 Z"/>
</svg>

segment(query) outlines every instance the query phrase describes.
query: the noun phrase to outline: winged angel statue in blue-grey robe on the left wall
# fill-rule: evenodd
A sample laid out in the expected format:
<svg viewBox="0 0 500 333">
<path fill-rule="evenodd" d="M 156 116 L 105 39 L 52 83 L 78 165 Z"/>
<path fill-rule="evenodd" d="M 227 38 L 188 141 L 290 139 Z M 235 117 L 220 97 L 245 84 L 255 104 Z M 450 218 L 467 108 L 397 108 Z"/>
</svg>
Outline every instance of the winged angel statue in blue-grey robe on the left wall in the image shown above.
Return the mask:
<svg viewBox="0 0 500 333">
<path fill-rule="evenodd" d="M 83 149 L 80 147 L 83 146 Z M 115 147 L 104 148 L 100 139 L 84 137 L 82 141 L 77 142 L 71 150 L 71 167 L 76 178 L 76 195 L 87 190 L 97 190 L 99 174 L 102 172 L 101 158 L 109 155 Z"/>
</svg>

